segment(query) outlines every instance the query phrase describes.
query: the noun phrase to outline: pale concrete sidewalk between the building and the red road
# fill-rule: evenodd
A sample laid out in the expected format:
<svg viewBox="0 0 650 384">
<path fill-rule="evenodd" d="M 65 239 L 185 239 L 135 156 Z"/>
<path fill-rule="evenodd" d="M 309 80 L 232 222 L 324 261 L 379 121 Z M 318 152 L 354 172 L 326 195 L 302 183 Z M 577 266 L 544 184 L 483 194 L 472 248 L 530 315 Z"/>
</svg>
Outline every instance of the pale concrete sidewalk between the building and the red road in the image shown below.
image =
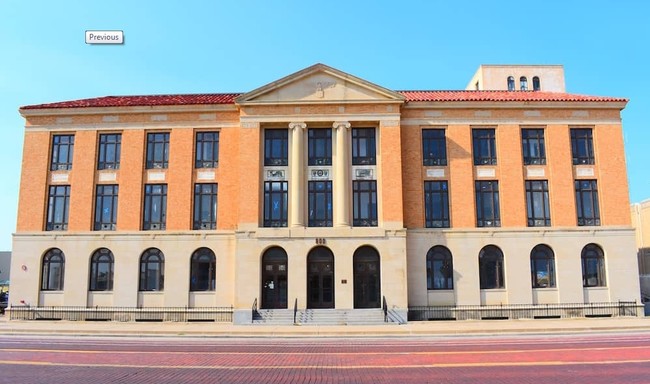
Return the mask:
<svg viewBox="0 0 650 384">
<path fill-rule="evenodd" d="M 0 335 L 404 337 L 631 331 L 650 332 L 650 317 L 428 321 L 404 325 L 268 326 L 230 323 L 9 321 L 6 316 L 0 316 Z"/>
</svg>

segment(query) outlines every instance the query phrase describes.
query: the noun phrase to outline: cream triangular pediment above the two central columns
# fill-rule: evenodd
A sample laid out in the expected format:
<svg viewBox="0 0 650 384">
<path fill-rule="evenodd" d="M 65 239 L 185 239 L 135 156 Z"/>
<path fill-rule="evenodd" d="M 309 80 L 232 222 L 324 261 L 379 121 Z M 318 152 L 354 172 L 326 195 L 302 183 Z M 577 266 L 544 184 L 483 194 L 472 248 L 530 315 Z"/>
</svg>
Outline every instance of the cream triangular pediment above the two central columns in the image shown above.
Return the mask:
<svg viewBox="0 0 650 384">
<path fill-rule="evenodd" d="M 236 99 L 237 104 L 386 103 L 401 94 L 324 64 L 315 64 Z"/>
</svg>

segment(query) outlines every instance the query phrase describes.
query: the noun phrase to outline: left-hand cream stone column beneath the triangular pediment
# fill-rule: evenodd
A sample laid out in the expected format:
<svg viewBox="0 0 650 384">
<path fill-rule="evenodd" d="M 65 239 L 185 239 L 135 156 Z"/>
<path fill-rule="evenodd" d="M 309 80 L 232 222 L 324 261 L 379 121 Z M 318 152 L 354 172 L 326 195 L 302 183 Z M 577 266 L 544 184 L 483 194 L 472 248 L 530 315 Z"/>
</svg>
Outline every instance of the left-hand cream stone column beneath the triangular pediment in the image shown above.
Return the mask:
<svg viewBox="0 0 650 384">
<path fill-rule="evenodd" d="M 304 227 L 305 209 L 303 202 L 305 188 L 305 170 L 303 155 L 303 132 L 305 123 L 290 123 L 291 153 L 289 154 L 289 227 Z"/>
</svg>

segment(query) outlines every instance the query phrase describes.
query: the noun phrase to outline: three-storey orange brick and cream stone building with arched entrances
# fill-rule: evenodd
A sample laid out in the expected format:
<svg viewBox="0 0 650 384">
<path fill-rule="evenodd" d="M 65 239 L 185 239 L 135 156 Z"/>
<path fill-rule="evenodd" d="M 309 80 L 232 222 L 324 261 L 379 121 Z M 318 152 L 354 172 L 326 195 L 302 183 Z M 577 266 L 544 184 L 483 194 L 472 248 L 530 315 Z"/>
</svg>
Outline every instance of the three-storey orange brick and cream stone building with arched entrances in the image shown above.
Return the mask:
<svg viewBox="0 0 650 384">
<path fill-rule="evenodd" d="M 561 66 L 393 91 L 317 64 L 243 94 L 25 106 L 11 300 L 236 322 L 638 300 L 626 103 L 565 93 Z"/>
</svg>

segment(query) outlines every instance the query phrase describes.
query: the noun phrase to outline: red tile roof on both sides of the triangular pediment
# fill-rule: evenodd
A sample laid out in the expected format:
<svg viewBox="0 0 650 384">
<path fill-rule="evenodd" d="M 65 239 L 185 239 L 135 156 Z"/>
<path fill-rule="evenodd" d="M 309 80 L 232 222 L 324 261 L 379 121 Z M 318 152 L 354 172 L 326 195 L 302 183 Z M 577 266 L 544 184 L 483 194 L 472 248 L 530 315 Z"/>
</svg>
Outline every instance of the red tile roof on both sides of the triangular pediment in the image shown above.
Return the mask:
<svg viewBox="0 0 650 384">
<path fill-rule="evenodd" d="M 540 91 L 397 91 L 406 102 L 627 102 L 618 97 L 574 95 Z M 208 93 L 186 95 L 104 96 L 92 99 L 36 104 L 21 109 L 130 107 L 156 105 L 234 104 L 241 93 Z"/>
</svg>

